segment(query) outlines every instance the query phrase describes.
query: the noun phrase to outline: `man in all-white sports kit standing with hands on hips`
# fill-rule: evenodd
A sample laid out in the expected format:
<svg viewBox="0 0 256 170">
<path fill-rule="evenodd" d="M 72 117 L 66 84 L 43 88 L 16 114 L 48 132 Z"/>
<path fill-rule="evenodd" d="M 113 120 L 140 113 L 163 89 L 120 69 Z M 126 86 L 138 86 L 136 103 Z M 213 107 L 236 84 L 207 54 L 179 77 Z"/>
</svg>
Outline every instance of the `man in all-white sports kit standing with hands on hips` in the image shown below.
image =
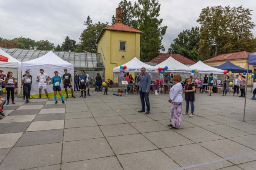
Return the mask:
<svg viewBox="0 0 256 170">
<path fill-rule="evenodd" d="M 38 88 L 39 88 L 39 98 L 41 98 L 42 95 L 42 89 L 44 89 L 44 92 L 46 94 L 46 98 L 50 98 L 48 96 L 47 92 L 47 82 L 50 81 L 50 76 L 46 73 L 44 73 L 43 69 L 40 69 L 40 74 L 37 75 L 37 80 L 39 80 Z"/>
</svg>

